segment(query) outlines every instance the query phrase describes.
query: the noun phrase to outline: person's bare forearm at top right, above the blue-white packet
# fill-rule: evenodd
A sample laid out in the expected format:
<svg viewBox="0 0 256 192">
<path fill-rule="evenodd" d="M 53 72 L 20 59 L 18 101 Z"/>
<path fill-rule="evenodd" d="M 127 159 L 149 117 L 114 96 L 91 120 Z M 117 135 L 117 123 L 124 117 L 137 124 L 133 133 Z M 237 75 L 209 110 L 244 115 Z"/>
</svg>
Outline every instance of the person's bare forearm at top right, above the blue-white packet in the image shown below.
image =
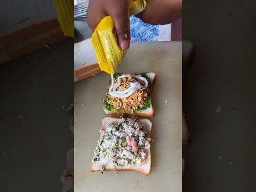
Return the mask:
<svg viewBox="0 0 256 192">
<path fill-rule="evenodd" d="M 182 0 L 147 0 L 145 11 L 136 17 L 151 25 L 165 25 L 181 17 Z"/>
</svg>

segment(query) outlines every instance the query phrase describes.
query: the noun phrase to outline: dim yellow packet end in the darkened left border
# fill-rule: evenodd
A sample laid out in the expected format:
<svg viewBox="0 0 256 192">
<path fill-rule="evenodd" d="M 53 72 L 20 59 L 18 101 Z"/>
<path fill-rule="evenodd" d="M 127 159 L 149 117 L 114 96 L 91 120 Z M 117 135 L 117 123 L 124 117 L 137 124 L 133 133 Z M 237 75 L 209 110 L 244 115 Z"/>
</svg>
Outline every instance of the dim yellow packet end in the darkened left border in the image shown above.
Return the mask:
<svg viewBox="0 0 256 192">
<path fill-rule="evenodd" d="M 54 4 L 63 34 L 74 38 L 74 1 L 54 0 Z"/>
</svg>

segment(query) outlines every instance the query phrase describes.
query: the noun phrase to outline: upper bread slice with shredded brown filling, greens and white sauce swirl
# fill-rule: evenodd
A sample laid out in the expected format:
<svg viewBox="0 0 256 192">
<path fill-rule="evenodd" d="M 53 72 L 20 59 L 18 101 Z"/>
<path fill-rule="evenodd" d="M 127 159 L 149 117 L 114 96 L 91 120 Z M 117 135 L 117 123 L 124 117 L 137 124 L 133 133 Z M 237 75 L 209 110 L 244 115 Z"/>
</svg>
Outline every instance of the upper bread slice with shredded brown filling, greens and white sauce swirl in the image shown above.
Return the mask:
<svg viewBox="0 0 256 192">
<path fill-rule="evenodd" d="M 114 74 L 103 110 L 106 114 L 153 117 L 151 96 L 155 82 L 155 73 Z"/>
</svg>

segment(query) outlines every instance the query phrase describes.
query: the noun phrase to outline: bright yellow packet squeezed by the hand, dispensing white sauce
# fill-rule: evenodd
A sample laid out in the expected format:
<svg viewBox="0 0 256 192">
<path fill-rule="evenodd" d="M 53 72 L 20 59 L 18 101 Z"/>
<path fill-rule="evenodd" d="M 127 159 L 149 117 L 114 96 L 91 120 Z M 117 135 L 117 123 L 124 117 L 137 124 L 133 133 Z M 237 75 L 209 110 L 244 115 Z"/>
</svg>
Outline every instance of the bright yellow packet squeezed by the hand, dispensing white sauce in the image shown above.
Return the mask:
<svg viewBox="0 0 256 192">
<path fill-rule="evenodd" d="M 129 18 L 130 15 L 138 14 L 145 10 L 145 0 L 129 0 Z M 130 26 L 129 26 L 130 33 Z M 118 45 L 114 20 L 107 16 L 103 18 L 94 33 L 92 34 L 92 45 L 100 69 L 113 75 L 115 69 L 121 64 L 126 51 L 122 51 Z"/>
</svg>

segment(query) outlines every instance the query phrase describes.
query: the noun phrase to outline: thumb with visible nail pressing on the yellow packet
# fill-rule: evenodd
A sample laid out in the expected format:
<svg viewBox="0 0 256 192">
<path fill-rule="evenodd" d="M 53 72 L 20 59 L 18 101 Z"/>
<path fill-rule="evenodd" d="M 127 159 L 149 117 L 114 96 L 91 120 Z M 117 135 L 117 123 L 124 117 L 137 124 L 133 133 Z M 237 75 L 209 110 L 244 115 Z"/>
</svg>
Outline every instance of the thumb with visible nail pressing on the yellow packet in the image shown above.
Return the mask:
<svg viewBox="0 0 256 192">
<path fill-rule="evenodd" d="M 114 17 L 116 35 L 118 39 L 119 46 L 121 49 L 127 50 L 130 47 L 130 30 L 129 26 L 129 18 L 127 18 L 127 14 L 123 14 L 121 17 Z"/>
</svg>

